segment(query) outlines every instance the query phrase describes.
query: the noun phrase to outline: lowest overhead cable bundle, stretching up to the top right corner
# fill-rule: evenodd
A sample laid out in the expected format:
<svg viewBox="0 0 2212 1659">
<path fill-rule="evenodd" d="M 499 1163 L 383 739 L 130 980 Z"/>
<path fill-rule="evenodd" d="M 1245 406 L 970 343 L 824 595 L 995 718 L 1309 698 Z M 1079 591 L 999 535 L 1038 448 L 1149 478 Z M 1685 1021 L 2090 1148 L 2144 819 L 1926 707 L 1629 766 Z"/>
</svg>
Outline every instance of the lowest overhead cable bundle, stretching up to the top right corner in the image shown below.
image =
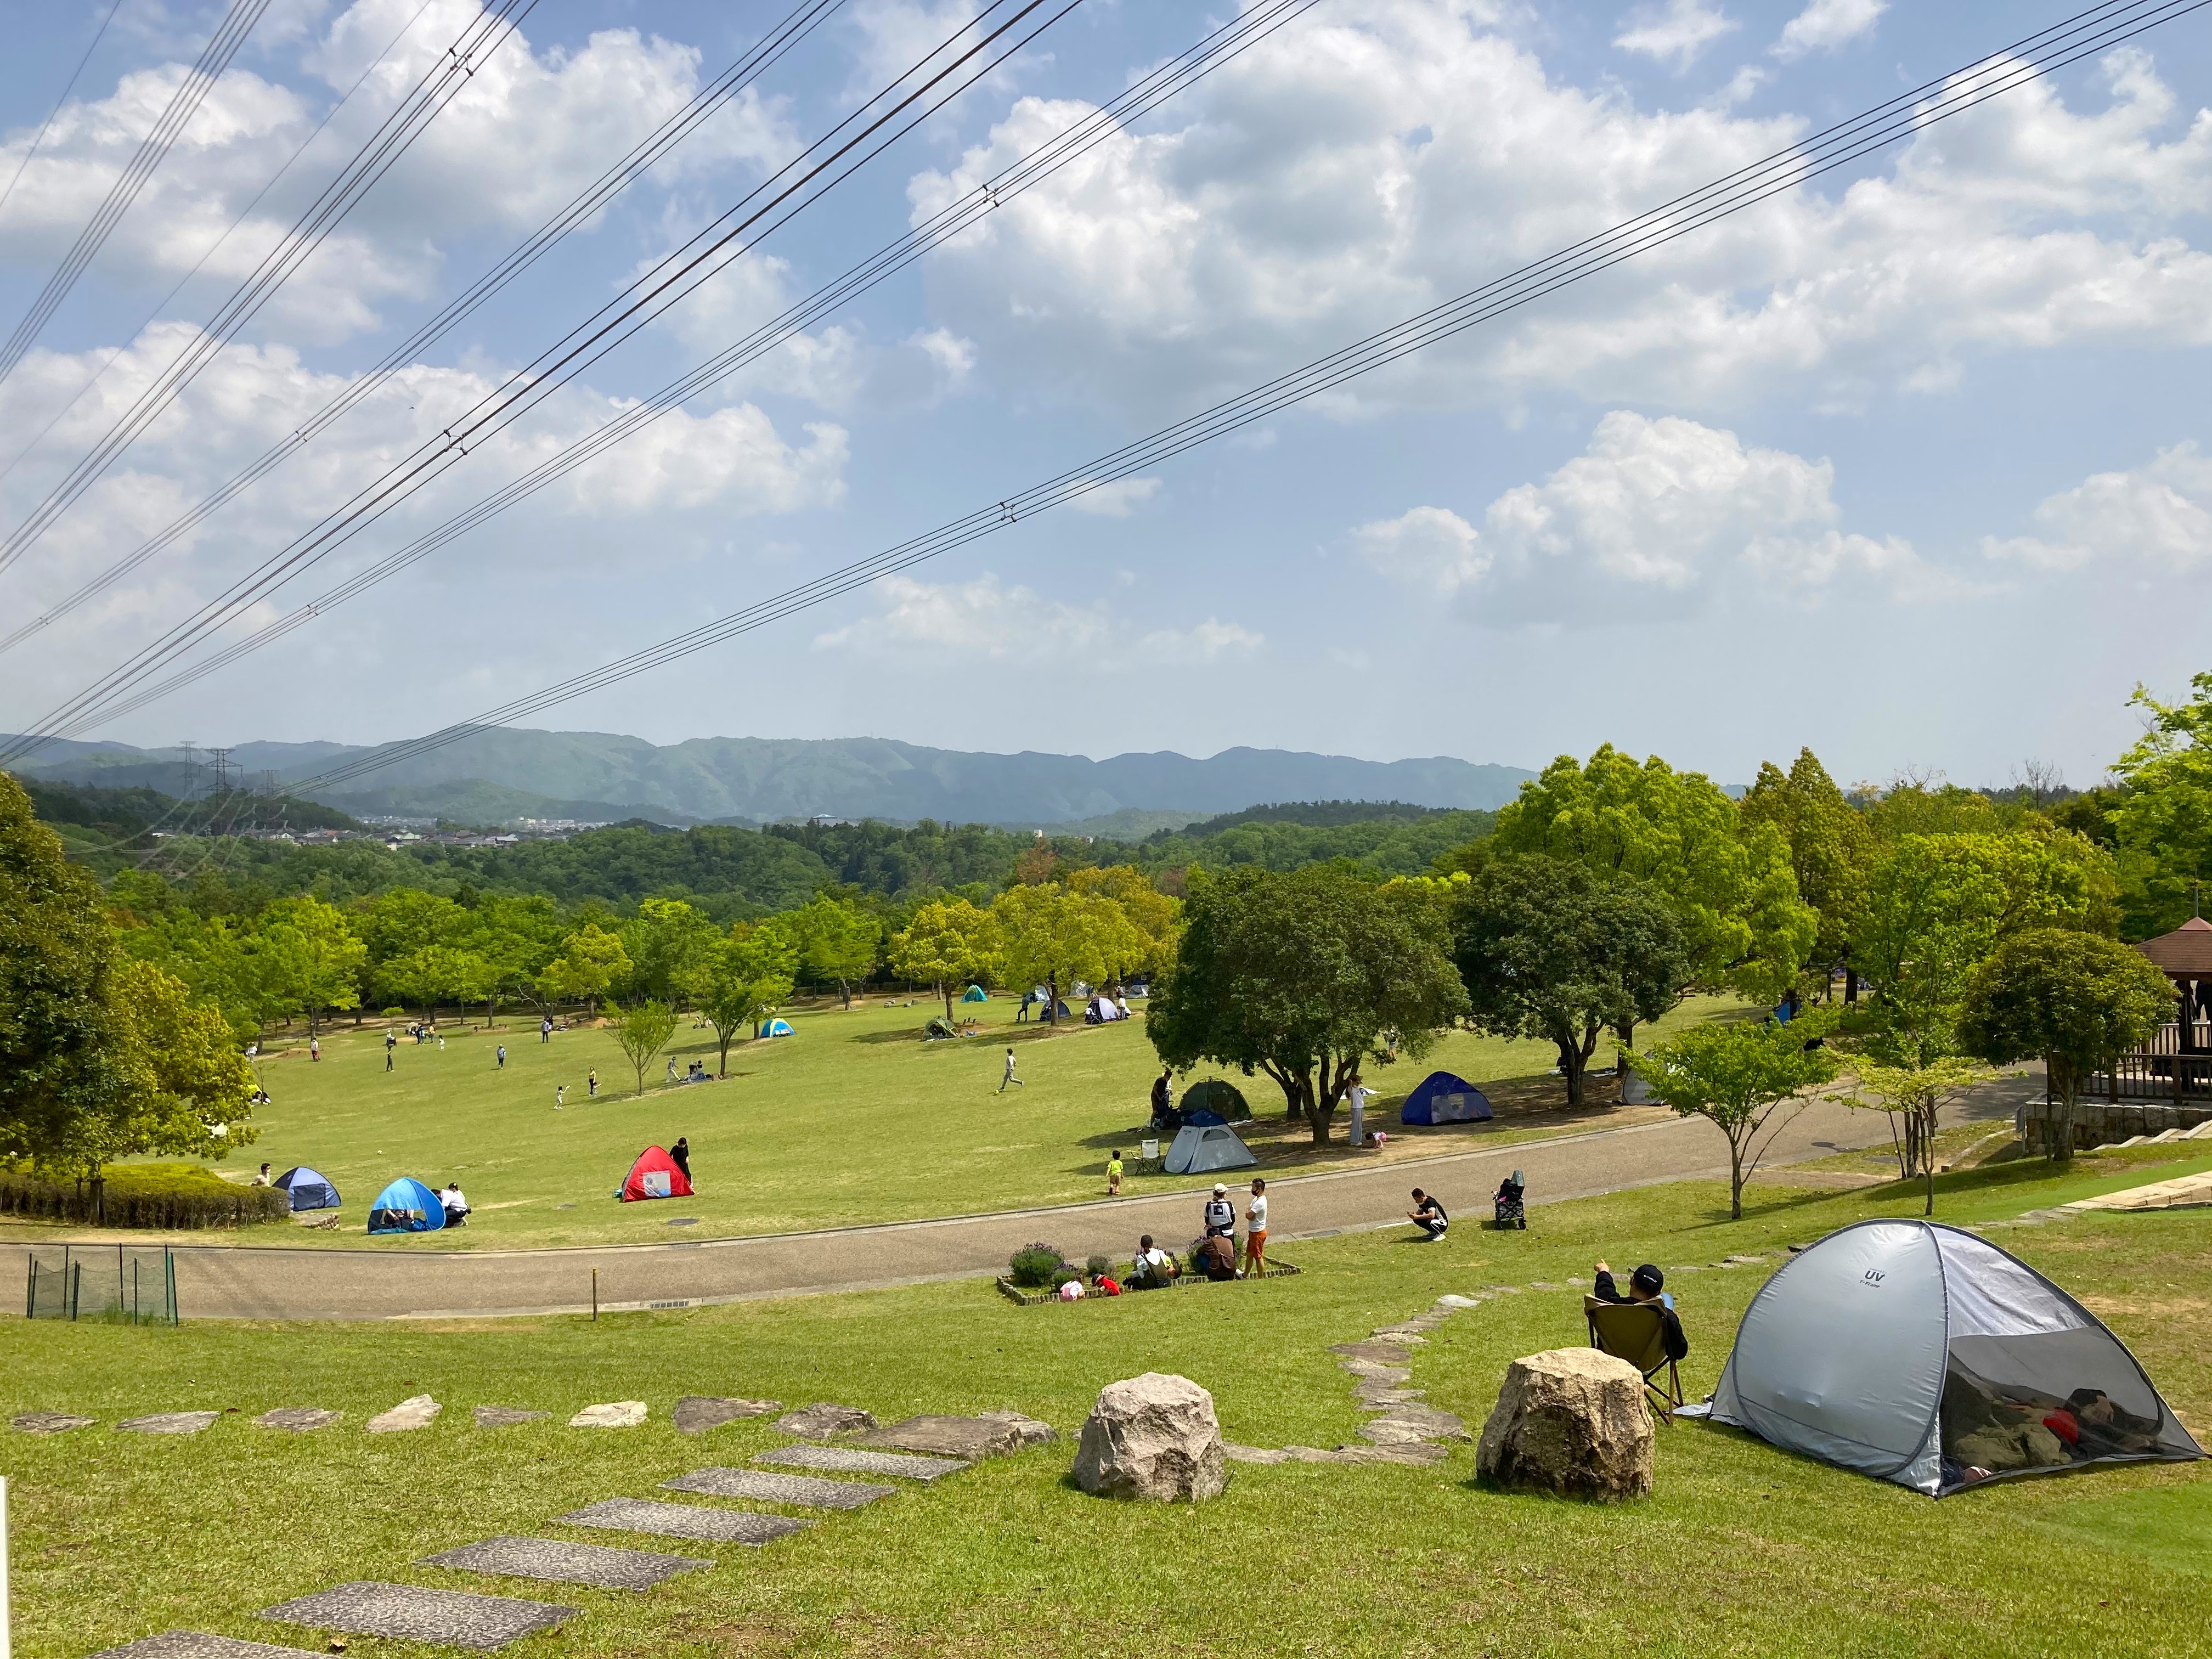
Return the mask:
<svg viewBox="0 0 2212 1659">
<path fill-rule="evenodd" d="M 1641 252 L 1650 252 L 1652 248 L 1703 230 L 1705 226 L 1743 212 L 1745 208 L 1781 195 L 1783 190 L 1792 190 L 1807 179 L 1816 179 L 1871 155 L 1874 150 L 1896 144 L 1909 133 L 1951 119 L 1969 108 L 1986 104 L 1993 97 L 2002 97 L 2004 93 L 2042 80 L 2044 75 L 2051 75 L 2095 51 L 2117 46 L 2208 4 L 2212 4 L 2212 0 L 2166 0 L 2163 4 L 2157 0 L 2137 0 L 2135 4 L 2090 7 L 2062 24 L 2053 24 L 2051 29 L 2028 35 L 2024 42 L 2017 42 L 2002 53 L 1991 53 L 1953 75 L 1947 75 L 1942 82 L 1929 82 L 1927 86 L 1916 88 L 1916 93 L 1889 100 L 1851 122 L 1827 128 L 1827 133 L 1816 135 L 1816 139 L 1807 146 L 1783 150 L 1774 157 L 1739 168 L 1701 190 L 1677 197 L 1663 208 L 1599 232 L 1597 237 L 1588 237 L 1559 254 L 1509 272 L 1506 276 L 1484 283 L 1469 294 L 1433 305 L 1418 316 L 1369 334 L 1340 352 L 1332 352 L 1325 358 L 1316 358 L 1298 369 L 1292 369 L 1290 374 L 1254 387 L 1239 398 L 1219 403 L 1212 409 L 1152 434 L 1150 438 L 1124 445 L 1086 467 L 1060 473 L 1057 478 L 1026 489 L 1020 495 L 1009 495 L 1006 500 L 953 520 L 951 524 L 945 524 L 927 535 L 900 542 L 872 560 L 847 564 L 841 571 L 821 575 L 814 582 L 790 588 L 772 599 L 763 599 L 761 604 L 719 617 L 699 628 L 630 653 L 617 661 L 573 675 L 538 692 L 515 697 L 498 708 L 484 710 L 471 721 L 447 726 L 405 743 L 389 743 L 290 787 L 305 794 L 310 790 L 330 790 L 338 783 L 349 783 L 416 754 L 427 754 L 449 743 L 458 743 L 476 732 L 507 726 L 515 719 L 538 714 L 593 690 L 604 690 L 606 686 L 633 679 L 635 675 L 650 672 L 653 668 L 661 668 L 692 653 L 708 650 L 710 646 L 723 644 L 754 628 L 763 628 L 770 622 L 796 615 L 841 593 L 852 593 L 854 588 L 878 582 L 885 575 L 920 564 L 922 560 L 940 557 L 942 553 L 1018 524 L 1033 513 L 1064 504 L 1121 478 L 1130 478 L 1146 467 L 1155 467 L 1183 453 L 1186 449 L 1228 436 L 1230 431 L 1261 420 L 1276 409 L 1303 403 L 1321 392 L 1396 363 L 1411 352 L 1427 349 L 1438 341 L 1513 312 L 1535 299 L 1542 299 L 1544 294 L 1584 281 L 1601 270 L 1610 270 L 1624 259 L 1635 259 Z M 1929 86 L 1940 88 L 1933 100 L 1920 104 L 1918 108 L 1909 108 L 1902 115 L 1896 113 L 1898 104 L 1929 91 Z"/>
</svg>

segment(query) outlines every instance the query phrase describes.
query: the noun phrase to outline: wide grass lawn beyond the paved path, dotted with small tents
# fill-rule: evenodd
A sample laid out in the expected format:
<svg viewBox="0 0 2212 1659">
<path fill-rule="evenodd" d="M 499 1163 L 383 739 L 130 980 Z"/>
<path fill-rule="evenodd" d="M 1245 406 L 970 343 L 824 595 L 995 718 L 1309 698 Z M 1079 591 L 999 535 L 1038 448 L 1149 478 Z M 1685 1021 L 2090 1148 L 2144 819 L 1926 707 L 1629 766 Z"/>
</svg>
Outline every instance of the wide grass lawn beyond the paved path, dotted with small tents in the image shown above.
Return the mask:
<svg viewBox="0 0 2212 1659">
<path fill-rule="evenodd" d="M 1661 1029 L 1710 1018 L 1721 1000 L 1686 1004 Z M 666 1212 L 613 1201 L 630 1161 L 646 1146 L 688 1135 L 699 1197 L 686 1201 L 701 1230 L 692 1237 L 790 1232 L 865 1221 L 907 1221 L 978 1210 L 1073 1203 L 1102 1197 L 1106 1155 L 1137 1157 L 1159 1071 L 1144 1020 L 1057 1031 L 1013 1024 L 1006 1000 L 967 1006 L 984 1035 L 920 1042 L 936 1004 L 885 1009 L 834 1004 L 794 1011 L 796 1035 L 752 1042 L 730 1053 L 730 1075 L 712 1084 L 659 1086 L 655 1062 L 644 1097 L 613 1031 L 577 1029 L 538 1040 L 538 1024 L 502 1022 L 462 1033 L 445 1048 L 405 1035 L 385 1073 L 380 1029 L 338 1026 L 310 1062 L 305 1042 L 261 1062 L 272 1104 L 257 1115 L 261 1139 L 232 1155 L 226 1172 L 250 1175 L 305 1164 L 345 1194 L 343 1225 L 330 1232 L 261 1228 L 239 1241 L 336 1243 L 361 1248 L 367 1206 L 387 1181 L 414 1175 L 431 1186 L 460 1177 L 476 1208 L 469 1225 L 431 1239 L 378 1239 L 403 1250 L 518 1248 L 664 1241 Z M 710 1031 L 679 1029 L 677 1073 L 692 1057 L 714 1064 Z M 507 1044 L 507 1066 L 495 1048 Z M 1006 1046 L 1024 1086 L 998 1093 Z M 1378 1068 L 1380 1102 L 1369 1124 L 1394 1135 L 1389 1157 L 1464 1150 L 1478 1144 L 1613 1128 L 1637 1121 L 1619 1110 L 1504 1115 L 1498 1124 L 1398 1130 L 1396 1102 L 1431 1068 L 1475 1082 L 1509 1084 L 1513 1102 L 1562 1102 L 1564 1084 L 1542 1075 L 1548 1046 L 1453 1033 L 1429 1062 Z M 599 1093 L 586 1088 L 597 1068 Z M 1537 1073 L 1537 1075 L 1531 1075 Z M 1256 1124 L 1248 1139 L 1265 1170 L 1327 1168 L 1343 1148 L 1316 1152 L 1312 1133 L 1285 1126 L 1281 1091 L 1265 1077 L 1237 1079 Z M 553 1091 L 568 1086 L 562 1110 Z M 1380 1110 L 1378 1110 L 1380 1108 Z M 1650 1113 L 1644 1115 L 1661 1115 Z M 1133 1192 L 1197 1186 L 1192 1177 L 1137 1177 Z M 60 1234 L 55 1234 L 60 1237 Z M 228 1239 L 226 1239 L 228 1241 Z"/>
</svg>

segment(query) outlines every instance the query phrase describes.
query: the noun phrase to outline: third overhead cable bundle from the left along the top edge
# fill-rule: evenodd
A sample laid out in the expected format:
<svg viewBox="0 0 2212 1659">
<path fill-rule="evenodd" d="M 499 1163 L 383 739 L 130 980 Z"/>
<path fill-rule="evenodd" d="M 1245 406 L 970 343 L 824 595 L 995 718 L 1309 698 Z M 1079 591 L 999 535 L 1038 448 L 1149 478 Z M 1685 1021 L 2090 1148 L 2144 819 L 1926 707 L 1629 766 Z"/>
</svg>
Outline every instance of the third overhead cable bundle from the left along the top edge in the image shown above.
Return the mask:
<svg viewBox="0 0 2212 1659">
<path fill-rule="evenodd" d="M 445 338 L 453 327 L 458 327 L 467 316 L 471 316 L 480 305 L 484 305 L 493 294 L 515 281 L 524 270 L 535 265 L 544 254 L 549 254 L 571 230 L 586 223 L 595 212 L 606 208 L 617 195 L 622 195 L 630 184 L 644 177 L 655 164 L 659 164 L 677 144 L 690 137 L 708 117 L 726 108 L 737 100 L 748 86 L 759 82 L 776 62 L 783 60 L 801 40 L 805 40 L 814 29 L 834 11 L 838 11 L 845 0 L 801 0 L 801 4 L 774 29 L 770 29 L 743 58 L 730 64 L 721 75 L 708 82 L 699 93 L 675 115 L 661 122 L 653 133 L 630 146 L 615 166 L 602 173 L 591 186 L 586 186 L 568 206 L 560 208 L 551 219 L 546 219 L 538 230 L 533 230 L 513 252 L 500 259 L 491 270 L 476 279 L 462 294 L 447 303 L 436 316 L 422 323 L 414 334 L 394 345 L 383 358 L 369 367 L 367 374 L 349 380 L 330 403 L 307 416 L 296 429 L 285 434 L 276 445 L 272 445 L 263 456 L 250 462 L 243 471 L 230 478 L 226 484 L 215 489 L 197 507 L 188 509 L 181 518 L 170 522 L 166 529 L 157 531 L 153 538 L 142 542 L 137 549 L 126 553 L 122 560 L 111 564 L 100 575 L 91 577 L 84 586 L 58 599 L 53 606 L 42 611 L 38 617 L 24 622 L 20 628 L 0 635 L 0 650 L 11 650 L 35 633 L 49 628 L 60 617 L 69 615 L 84 602 L 97 597 L 100 593 L 115 586 L 119 580 L 137 571 L 146 560 L 155 557 L 164 549 L 175 546 L 184 535 L 199 529 L 208 518 L 228 507 L 232 500 L 243 495 L 268 473 L 276 471 L 285 460 L 299 453 L 301 447 L 319 438 L 330 425 L 334 425 L 349 409 L 358 407 L 372 394 L 376 394 L 394 374 L 398 374 L 409 363 L 420 361 L 422 352 L 436 341 Z"/>
</svg>

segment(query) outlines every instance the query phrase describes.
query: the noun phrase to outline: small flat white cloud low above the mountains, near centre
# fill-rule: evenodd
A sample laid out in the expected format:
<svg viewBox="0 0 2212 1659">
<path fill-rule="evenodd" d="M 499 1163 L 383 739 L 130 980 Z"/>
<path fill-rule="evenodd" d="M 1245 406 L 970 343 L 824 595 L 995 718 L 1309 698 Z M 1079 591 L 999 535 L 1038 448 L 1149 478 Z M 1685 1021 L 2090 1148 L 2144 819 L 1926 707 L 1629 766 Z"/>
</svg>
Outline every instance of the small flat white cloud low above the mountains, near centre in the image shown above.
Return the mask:
<svg viewBox="0 0 2212 1659">
<path fill-rule="evenodd" d="M 1206 617 L 1190 628 L 1139 630 L 1106 604 L 1066 604 L 984 573 L 973 582 L 891 575 L 872 588 L 876 613 L 814 637 L 816 650 L 860 657 L 931 657 L 1048 668 L 1062 677 L 1234 661 L 1265 637 Z"/>
</svg>

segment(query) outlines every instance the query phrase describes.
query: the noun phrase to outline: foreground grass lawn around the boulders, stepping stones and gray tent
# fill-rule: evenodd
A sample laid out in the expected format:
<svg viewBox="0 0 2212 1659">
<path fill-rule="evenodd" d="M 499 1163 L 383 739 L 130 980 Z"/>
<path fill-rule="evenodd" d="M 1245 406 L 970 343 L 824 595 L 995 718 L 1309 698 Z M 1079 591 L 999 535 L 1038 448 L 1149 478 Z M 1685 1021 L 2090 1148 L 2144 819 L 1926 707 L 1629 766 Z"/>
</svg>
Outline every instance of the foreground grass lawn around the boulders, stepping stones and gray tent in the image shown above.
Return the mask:
<svg viewBox="0 0 2212 1659">
<path fill-rule="evenodd" d="M 2143 1179 L 2168 1170 L 2119 1164 Z M 2075 1179 L 2048 1166 L 1942 1177 L 1938 1214 L 1993 1197 L 2039 1208 Z M 1712 1263 L 1909 1208 L 1876 1190 L 1754 1188 L 1745 1219 L 1728 1223 L 1725 1199 L 1677 1183 L 1548 1206 L 1528 1232 L 1467 1228 L 1438 1248 L 1391 1232 L 1310 1241 L 1296 1279 L 1075 1307 L 1013 1307 L 953 1283 L 597 1325 L 11 1323 L 7 1411 L 241 1413 L 177 1440 L 106 1427 L 0 1438 L 15 1639 L 27 1659 L 77 1659 L 179 1626 L 319 1648 L 252 1610 L 380 1577 L 584 1608 L 511 1648 L 515 1659 L 2212 1652 L 2205 1464 L 2006 1482 L 1938 1504 L 1701 1422 L 1661 1427 L 1657 1493 L 1617 1509 L 1484 1491 L 1471 1447 L 1455 1447 L 1433 1469 L 1232 1464 L 1221 1500 L 1161 1511 L 1075 1491 L 1064 1440 L 761 1551 L 573 1533 L 721 1562 L 644 1595 L 411 1566 L 493 1533 L 568 1535 L 549 1520 L 779 1442 L 761 1422 L 679 1438 L 668 1409 L 692 1391 L 834 1398 L 880 1418 L 1018 1407 L 1071 1440 L 1104 1383 L 1164 1369 L 1214 1391 L 1232 1440 L 1332 1447 L 1352 1440 L 1358 1413 L 1329 1343 L 1442 1292 L 1557 1281 L 1458 1314 L 1416 1352 L 1413 1385 L 1480 1427 L 1511 1356 L 1582 1340 L 1579 1292 L 1564 1281 L 1586 1276 L 1595 1254 L 1672 1270 L 1697 1396 L 1767 1272 Z M 1995 1237 L 2104 1316 L 2208 1438 L 2212 1214 L 2084 1217 Z M 422 1391 L 447 1402 L 431 1429 L 358 1431 Z M 628 1398 L 653 1407 L 646 1427 L 564 1427 L 586 1402 Z M 555 1418 L 478 1431 L 467 1418 L 478 1402 Z M 246 1422 L 279 1405 L 343 1409 L 347 1422 L 314 1436 Z M 356 1637 L 349 1652 L 409 1650 Z"/>
</svg>

